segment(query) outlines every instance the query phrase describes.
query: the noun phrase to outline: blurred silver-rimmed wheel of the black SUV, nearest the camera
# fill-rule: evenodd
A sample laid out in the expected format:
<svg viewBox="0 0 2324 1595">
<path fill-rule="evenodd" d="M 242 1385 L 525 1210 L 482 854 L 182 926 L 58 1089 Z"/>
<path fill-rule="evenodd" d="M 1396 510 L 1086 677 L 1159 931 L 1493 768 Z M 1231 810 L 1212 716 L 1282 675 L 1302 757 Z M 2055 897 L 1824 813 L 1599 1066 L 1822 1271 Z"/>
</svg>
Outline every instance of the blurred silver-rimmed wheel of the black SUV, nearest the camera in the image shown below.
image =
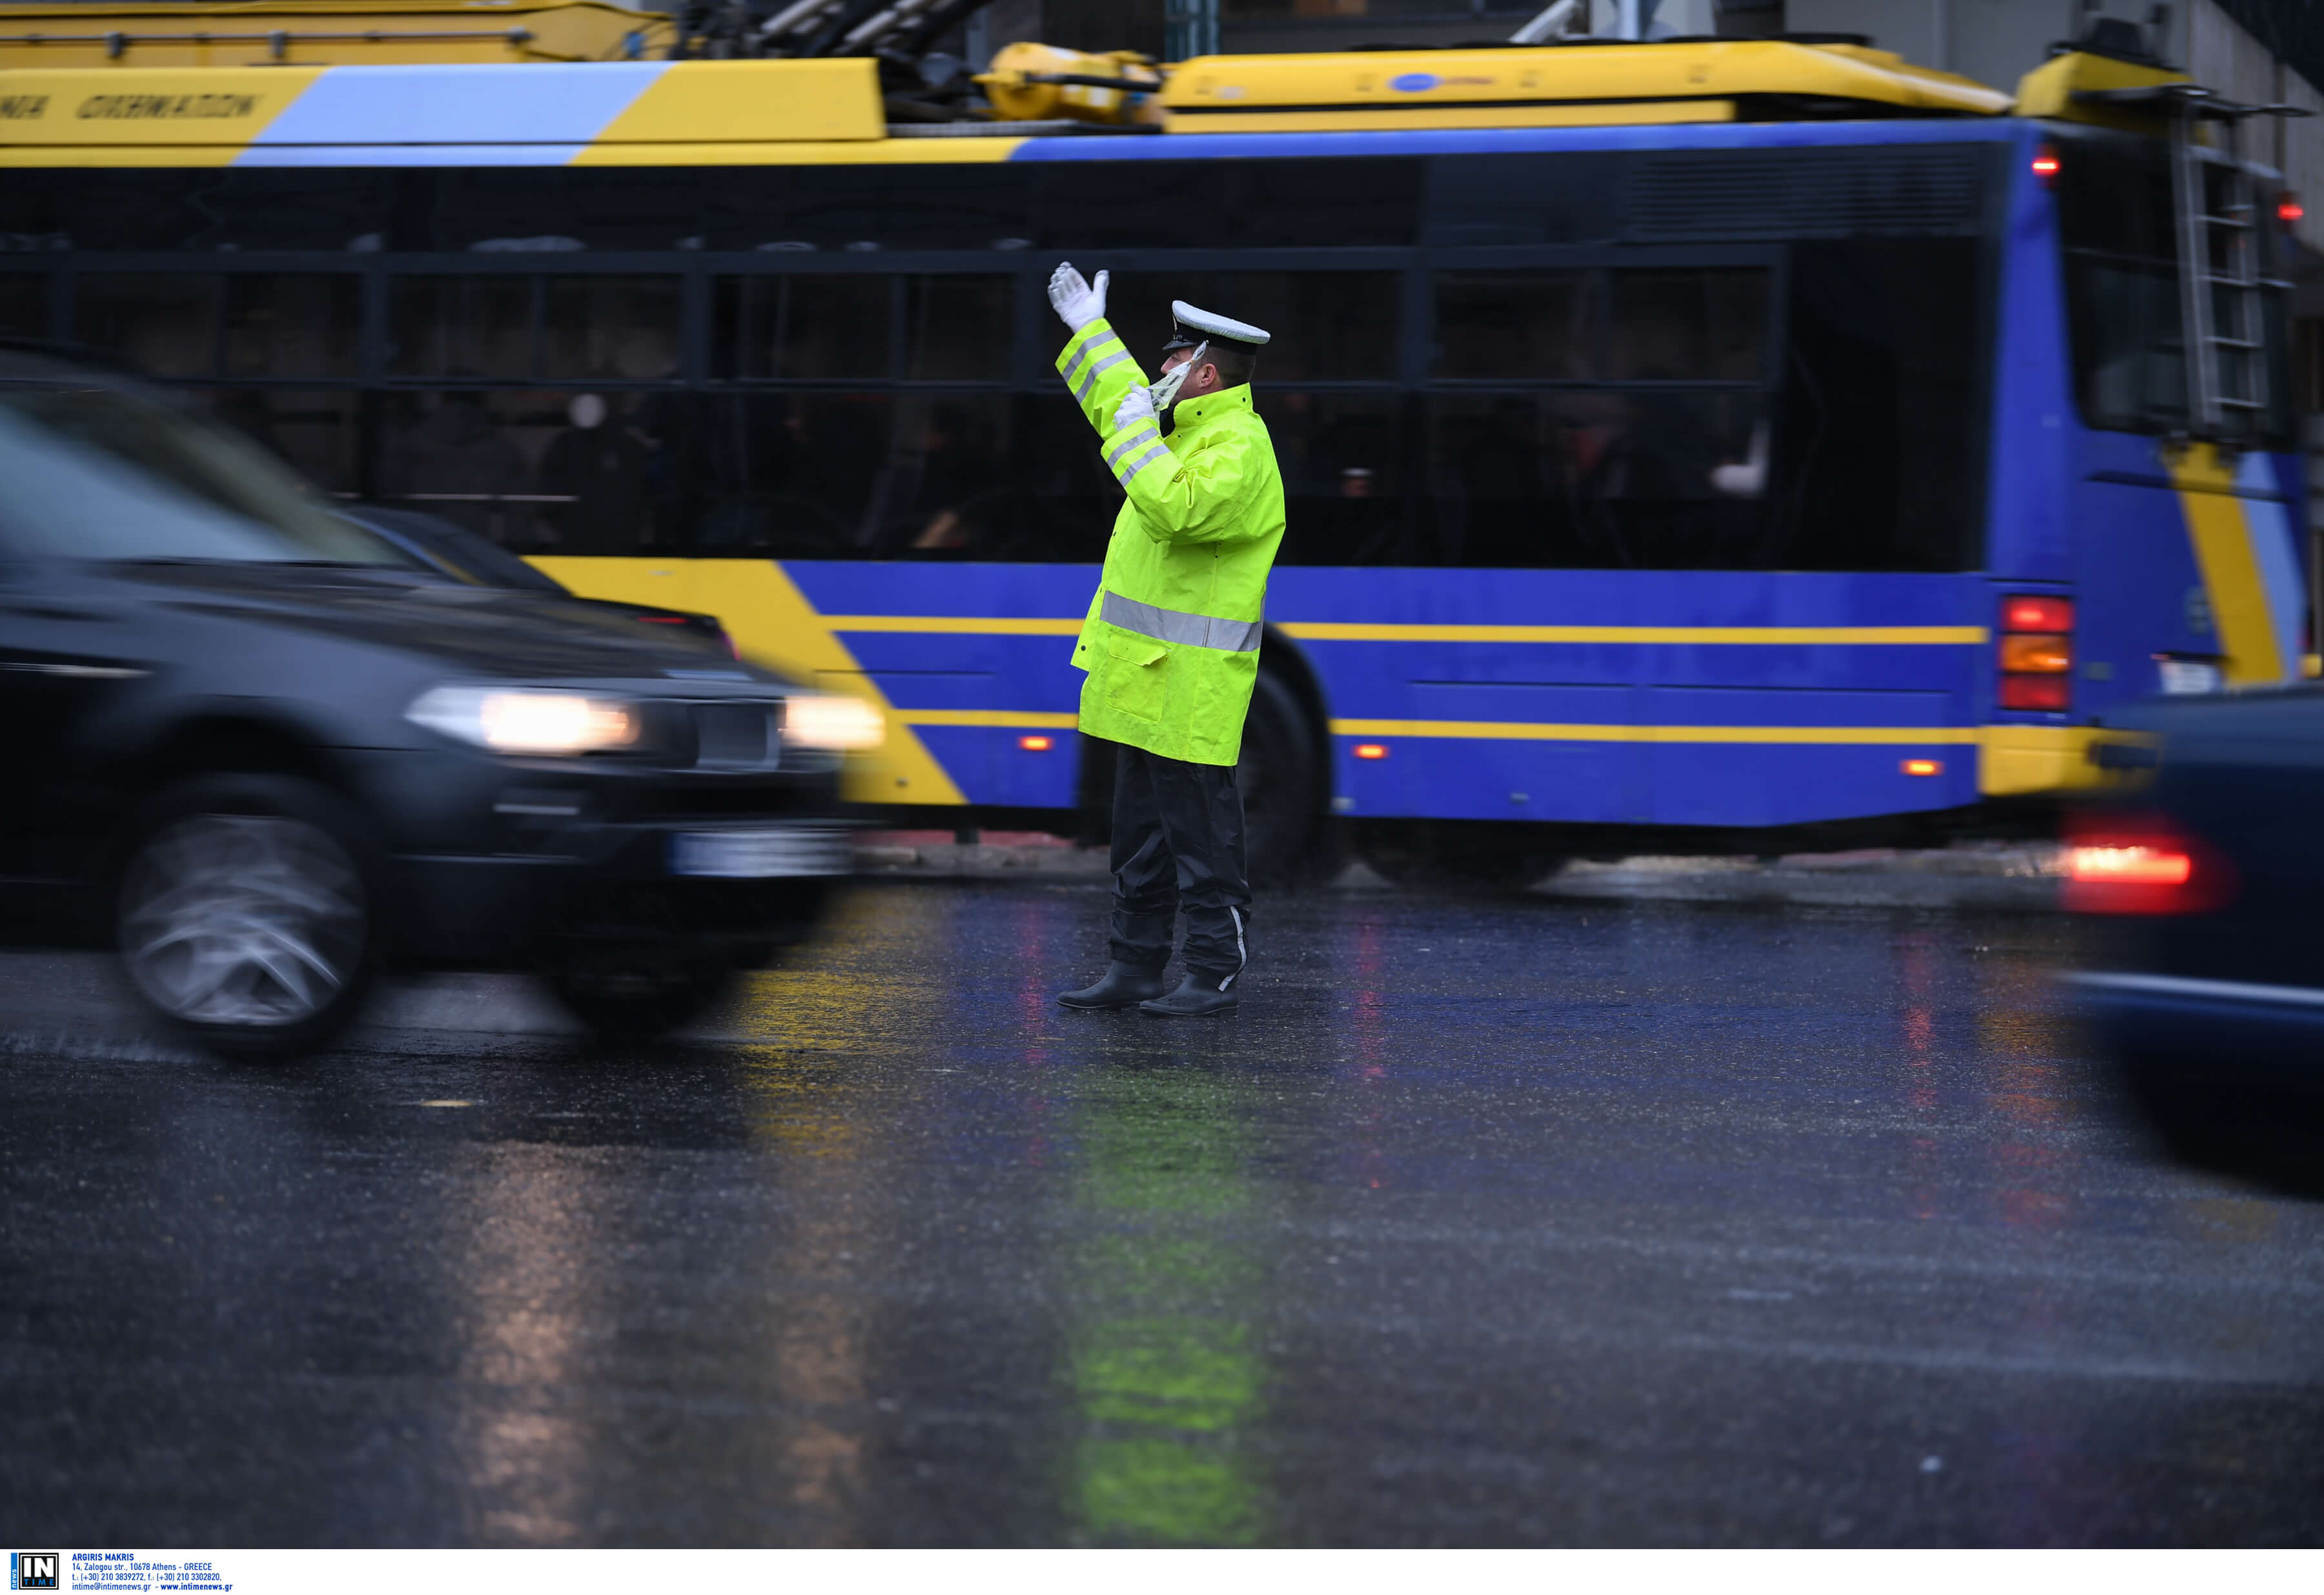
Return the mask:
<svg viewBox="0 0 2324 1595">
<path fill-rule="evenodd" d="M 137 995 L 225 1058 L 288 1058 L 363 1007 L 379 942 L 374 844 L 332 791 L 218 774 L 146 804 L 114 872 Z"/>
</svg>

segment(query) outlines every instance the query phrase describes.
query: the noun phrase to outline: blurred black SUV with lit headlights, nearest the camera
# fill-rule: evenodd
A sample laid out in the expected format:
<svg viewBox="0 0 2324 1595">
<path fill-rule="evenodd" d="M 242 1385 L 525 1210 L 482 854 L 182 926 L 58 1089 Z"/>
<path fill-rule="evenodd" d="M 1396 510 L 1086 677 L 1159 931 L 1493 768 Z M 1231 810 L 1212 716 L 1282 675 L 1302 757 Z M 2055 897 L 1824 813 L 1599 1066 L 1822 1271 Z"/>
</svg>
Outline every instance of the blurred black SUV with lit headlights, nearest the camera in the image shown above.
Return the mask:
<svg viewBox="0 0 2324 1595">
<path fill-rule="evenodd" d="M 0 351 L 0 897 L 81 914 L 225 1053 L 381 967 L 702 1014 L 848 867 L 853 700 L 683 628 L 458 581 L 125 377 Z"/>
</svg>

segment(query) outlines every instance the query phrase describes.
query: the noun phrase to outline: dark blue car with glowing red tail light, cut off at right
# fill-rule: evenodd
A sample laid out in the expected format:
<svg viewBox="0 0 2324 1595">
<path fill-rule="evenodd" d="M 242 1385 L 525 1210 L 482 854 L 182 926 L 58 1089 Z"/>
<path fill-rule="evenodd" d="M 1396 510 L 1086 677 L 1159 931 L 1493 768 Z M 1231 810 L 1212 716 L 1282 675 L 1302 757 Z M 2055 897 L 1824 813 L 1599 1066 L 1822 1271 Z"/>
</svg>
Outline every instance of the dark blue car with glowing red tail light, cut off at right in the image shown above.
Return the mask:
<svg viewBox="0 0 2324 1595">
<path fill-rule="evenodd" d="M 2066 904 L 2110 921 L 2075 1007 L 2175 1146 L 2324 1093 L 2324 691 L 2159 700 L 2075 816 Z M 2324 1170 L 2319 1170 L 2324 1172 Z"/>
</svg>

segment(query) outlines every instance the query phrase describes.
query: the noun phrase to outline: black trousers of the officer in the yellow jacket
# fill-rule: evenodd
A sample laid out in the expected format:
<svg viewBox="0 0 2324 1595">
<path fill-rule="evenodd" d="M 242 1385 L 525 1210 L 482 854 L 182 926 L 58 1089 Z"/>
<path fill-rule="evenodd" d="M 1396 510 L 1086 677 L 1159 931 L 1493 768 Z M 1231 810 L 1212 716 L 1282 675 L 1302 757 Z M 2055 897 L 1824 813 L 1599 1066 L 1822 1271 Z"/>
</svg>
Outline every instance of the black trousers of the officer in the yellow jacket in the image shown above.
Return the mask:
<svg viewBox="0 0 2324 1595">
<path fill-rule="evenodd" d="M 1232 988 L 1248 958 L 1250 877 L 1234 765 L 1120 746 L 1113 767 L 1113 958 L 1160 970 L 1185 909 L 1185 967 Z"/>
</svg>

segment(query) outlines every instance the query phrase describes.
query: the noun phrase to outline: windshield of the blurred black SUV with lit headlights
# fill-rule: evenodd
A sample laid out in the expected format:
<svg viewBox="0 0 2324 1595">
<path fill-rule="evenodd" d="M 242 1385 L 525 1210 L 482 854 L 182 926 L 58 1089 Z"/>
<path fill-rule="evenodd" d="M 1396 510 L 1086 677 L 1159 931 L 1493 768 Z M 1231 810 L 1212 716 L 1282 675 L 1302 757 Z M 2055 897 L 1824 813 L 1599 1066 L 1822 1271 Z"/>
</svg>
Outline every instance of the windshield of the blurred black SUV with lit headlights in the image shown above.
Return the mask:
<svg viewBox="0 0 2324 1595">
<path fill-rule="evenodd" d="M 84 560 L 414 565 L 258 446 L 121 388 L 0 388 L 0 521 Z"/>
</svg>

